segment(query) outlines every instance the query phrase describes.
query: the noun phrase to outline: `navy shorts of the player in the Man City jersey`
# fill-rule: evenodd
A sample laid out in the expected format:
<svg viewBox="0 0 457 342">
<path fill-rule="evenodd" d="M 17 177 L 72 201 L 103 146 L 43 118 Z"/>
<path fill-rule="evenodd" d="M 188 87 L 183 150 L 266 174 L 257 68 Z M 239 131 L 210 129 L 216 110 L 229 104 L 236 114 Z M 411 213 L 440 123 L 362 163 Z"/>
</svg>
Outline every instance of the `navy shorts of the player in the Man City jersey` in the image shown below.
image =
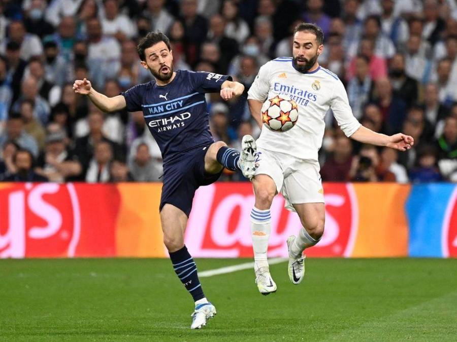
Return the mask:
<svg viewBox="0 0 457 342">
<path fill-rule="evenodd" d="M 205 155 L 209 146 L 191 149 L 178 160 L 164 166 L 164 184 L 159 210 L 169 203 L 189 216 L 195 190 L 219 179 L 222 170 L 216 174 L 205 171 Z"/>
</svg>

